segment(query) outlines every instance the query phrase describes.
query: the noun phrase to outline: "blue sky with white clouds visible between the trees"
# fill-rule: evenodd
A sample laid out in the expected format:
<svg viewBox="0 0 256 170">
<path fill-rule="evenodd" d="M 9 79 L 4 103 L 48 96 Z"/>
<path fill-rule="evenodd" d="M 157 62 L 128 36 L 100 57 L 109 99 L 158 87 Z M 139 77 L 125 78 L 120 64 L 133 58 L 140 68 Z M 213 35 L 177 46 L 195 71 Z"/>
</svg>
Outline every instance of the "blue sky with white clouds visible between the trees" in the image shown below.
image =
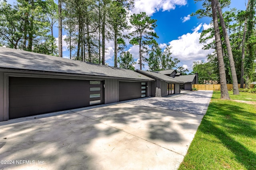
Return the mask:
<svg viewBox="0 0 256 170">
<path fill-rule="evenodd" d="M 248 0 L 231 0 L 230 8 L 245 10 Z M 13 4 L 14 0 L 8 0 Z M 58 3 L 58 0 L 55 0 Z M 134 0 L 134 9 L 131 13 L 146 12 L 148 16 L 157 20 L 155 29 L 159 38 L 158 44 L 162 49 L 168 45 L 172 46 L 172 57 L 178 58 L 180 65 L 192 71 L 193 61 L 207 61 L 207 55 L 213 50 L 202 50 L 203 44 L 199 44 L 200 33 L 203 29 L 210 25 L 210 18 L 190 17 L 192 12 L 202 8 L 202 2 L 195 3 L 194 0 Z M 128 30 L 130 32 L 132 30 Z M 63 33 L 65 37 L 66 33 Z M 54 36 L 58 39 L 58 28 L 54 29 Z M 128 40 L 126 41 L 128 43 Z M 138 61 L 138 46 L 127 44 L 127 49 L 130 51 L 135 61 Z M 114 42 L 106 42 L 106 63 L 110 66 L 114 65 Z M 63 56 L 69 56 L 66 43 L 63 42 Z M 139 65 L 135 65 L 139 69 Z M 142 70 L 147 70 L 148 66 Z"/>
</svg>

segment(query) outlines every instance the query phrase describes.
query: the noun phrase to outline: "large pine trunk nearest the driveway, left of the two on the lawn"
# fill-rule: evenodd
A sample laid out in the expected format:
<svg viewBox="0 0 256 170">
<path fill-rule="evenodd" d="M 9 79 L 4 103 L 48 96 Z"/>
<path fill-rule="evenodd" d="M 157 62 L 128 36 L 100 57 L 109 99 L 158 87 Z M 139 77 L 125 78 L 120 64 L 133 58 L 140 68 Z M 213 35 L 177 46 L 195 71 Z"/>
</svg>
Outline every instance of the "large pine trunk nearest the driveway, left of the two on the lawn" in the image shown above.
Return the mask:
<svg viewBox="0 0 256 170">
<path fill-rule="evenodd" d="M 222 55 L 222 44 L 220 39 L 220 30 L 219 30 L 219 24 L 218 24 L 218 14 L 216 9 L 216 0 L 211 0 L 212 5 L 212 18 L 214 23 L 214 35 L 215 35 L 215 41 L 216 41 L 216 52 L 218 57 L 218 66 L 219 66 L 219 72 L 220 72 L 220 93 L 221 93 L 221 99 L 229 100 L 229 94 L 228 94 L 228 88 L 227 88 L 227 81 L 226 81 L 226 73 L 225 73 L 225 66 L 224 66 L 224 59 Z"/>
</svg>

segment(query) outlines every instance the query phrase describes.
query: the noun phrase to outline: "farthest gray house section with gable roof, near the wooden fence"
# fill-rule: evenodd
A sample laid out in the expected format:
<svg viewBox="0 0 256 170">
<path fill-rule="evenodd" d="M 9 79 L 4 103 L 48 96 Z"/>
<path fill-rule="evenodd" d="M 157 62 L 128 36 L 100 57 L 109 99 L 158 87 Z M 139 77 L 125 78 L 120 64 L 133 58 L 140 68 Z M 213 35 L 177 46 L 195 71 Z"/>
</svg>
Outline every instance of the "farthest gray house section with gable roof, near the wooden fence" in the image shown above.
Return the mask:
<svg viewBox="0 0 256 170">
<path fill-rule="evenodd" d="M 192 75 L 177 75 L 175 80 L 182 81 L 184 84 L 180 85 L 181 90 L 192 90 L 193 84 L 198 84 L 198 73 Z"/>
</svg>

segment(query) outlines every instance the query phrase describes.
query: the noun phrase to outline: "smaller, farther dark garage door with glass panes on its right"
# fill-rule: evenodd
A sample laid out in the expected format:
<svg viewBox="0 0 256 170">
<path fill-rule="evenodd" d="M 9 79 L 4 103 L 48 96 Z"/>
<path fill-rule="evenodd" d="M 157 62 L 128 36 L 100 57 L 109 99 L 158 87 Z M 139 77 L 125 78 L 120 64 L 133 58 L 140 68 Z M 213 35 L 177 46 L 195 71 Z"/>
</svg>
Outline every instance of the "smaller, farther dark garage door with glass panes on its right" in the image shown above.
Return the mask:
<svg viewBox="0 0 256 170">
<path fill-rule="evenodd" d="M 146 97 L 146 82 L 119 82 L 119 101 Z"/>
</svg>

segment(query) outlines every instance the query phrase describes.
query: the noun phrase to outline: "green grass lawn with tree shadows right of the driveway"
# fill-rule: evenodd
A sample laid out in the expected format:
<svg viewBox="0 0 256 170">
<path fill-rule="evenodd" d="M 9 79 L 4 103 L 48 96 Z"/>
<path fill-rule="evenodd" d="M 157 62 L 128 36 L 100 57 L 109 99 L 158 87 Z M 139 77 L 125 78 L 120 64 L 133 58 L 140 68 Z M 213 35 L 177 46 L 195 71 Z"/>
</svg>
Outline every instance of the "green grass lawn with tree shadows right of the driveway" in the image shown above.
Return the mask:
<svg viewBox="0 0 256 170">
<path fill-rule="evenodd" d="M 256 170 L 256 94 L 230 92 L 230 98 L 214 91 L 179 170 Z"/>
</svg>

